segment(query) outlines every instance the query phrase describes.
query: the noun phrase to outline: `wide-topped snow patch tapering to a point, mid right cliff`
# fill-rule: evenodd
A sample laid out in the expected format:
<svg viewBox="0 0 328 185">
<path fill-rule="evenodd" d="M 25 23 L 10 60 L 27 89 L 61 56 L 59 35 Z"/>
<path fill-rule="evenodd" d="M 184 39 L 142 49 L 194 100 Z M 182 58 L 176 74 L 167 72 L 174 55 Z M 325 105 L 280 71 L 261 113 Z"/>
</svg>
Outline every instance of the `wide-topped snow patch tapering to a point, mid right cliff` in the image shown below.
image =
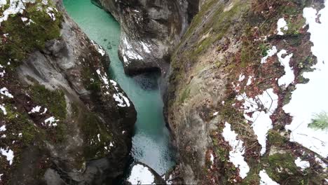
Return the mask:
<svg viewBox="0 0 328 185">
<path fill-rule="evenodd" d="M 273 114 L 275 109 L 278 107 L 278 95 L 273 92 L 273 89 L 270 88 L 265 90 L 262 95 L 257 95 L 257 97 L 250 98 L 244 93 L 238 95 L 238 101 L 245 100 L 242 104 L 244 109 L 244 117 L 252 122 L 252 128 L 259 144 L 261 144 L 261 155 L 266 153 L 266 136 L 268 130 L 273 128 L 272 121 L 270 116 Z M 265 109 L 261 109 L 261 107 Z M 248 116 L 251 114 L 251 116 Z"/>
</svg>

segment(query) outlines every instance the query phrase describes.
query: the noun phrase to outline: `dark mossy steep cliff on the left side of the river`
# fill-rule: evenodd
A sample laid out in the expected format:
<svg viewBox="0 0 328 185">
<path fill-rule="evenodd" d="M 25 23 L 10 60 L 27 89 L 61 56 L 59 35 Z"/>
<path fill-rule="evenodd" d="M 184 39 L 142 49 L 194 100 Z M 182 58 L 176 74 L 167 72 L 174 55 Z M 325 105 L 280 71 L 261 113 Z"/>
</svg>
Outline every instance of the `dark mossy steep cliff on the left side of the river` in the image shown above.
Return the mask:
<svg viewBox="0 0 328 185">
<path fill-rule="evenodd" d="M 136 111 L 61 1 L 0 1 L 0 184 L 123 174 Z"/>
</svg>

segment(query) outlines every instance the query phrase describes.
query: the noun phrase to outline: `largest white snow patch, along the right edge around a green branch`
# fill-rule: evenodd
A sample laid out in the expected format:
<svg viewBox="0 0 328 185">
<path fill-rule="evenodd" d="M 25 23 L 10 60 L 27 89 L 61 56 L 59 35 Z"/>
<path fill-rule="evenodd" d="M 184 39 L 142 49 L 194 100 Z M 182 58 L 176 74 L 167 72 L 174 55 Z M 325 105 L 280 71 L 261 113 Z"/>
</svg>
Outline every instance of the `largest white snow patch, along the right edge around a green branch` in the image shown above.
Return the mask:
<svg viewBox="0 0 328 185">
<path fill-rule="evenodd" d="M 317 64 L 313 66 L 315 71 L 303 73 L 308 78 L 306 84 L 297 84 L 292 93 L 292 100 L 283 109 L 292 117 L 292 123 L 286 125 L 291 130 L 290 141 L 298 142 L 306 148 L 315 151 L 320 156 L 328 157 L 328 130 L 308 128 L 313 116 L 322 112 L 328 112 L 328 1 L 325 8 L 319 13 L 314 8 L 304 8 L 303 17 L 309 25 L 310 41 L 313 55 L 317 57 Z M 320 15 L 320 23 L 315 19 Z"/>
</svg>

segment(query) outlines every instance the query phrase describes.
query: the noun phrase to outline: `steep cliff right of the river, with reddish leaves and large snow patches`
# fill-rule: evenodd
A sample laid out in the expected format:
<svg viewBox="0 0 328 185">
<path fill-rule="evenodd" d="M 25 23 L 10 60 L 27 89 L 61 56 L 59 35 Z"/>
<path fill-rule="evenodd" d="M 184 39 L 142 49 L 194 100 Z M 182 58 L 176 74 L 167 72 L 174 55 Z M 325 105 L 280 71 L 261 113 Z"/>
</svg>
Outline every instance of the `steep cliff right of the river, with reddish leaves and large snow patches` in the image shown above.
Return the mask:
<svg viewBox="0 0 328 185">
<path fill-rule="evenodd" d="M 324 5 L 201 1 L 166 97 L 184 183 L 327 184 Z"/>
</svg>

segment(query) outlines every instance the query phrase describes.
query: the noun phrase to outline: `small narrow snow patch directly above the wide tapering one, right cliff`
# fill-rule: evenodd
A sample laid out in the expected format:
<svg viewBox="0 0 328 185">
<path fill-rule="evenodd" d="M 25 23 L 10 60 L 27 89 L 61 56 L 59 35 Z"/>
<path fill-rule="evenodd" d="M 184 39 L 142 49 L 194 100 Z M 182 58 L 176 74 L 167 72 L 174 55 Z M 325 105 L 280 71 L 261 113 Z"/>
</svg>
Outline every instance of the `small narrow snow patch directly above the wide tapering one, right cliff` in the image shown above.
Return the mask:
<svg viewBox="0 0 328 185">
<path fill-rule="evenodd" d="M 280 50 L 277 56 L 280 64 L 285 67 L 285 75 L 279 78 L 278 85 L 285 85 L 285 87 L 287 88 L 290 83 L 294 82 L 295 76 L 292 67 L 289 66 L 289 61 L 292 58 L 293 54 L 289 54 L 285 57 L 282 57 L 282 55 L 286 54 L 287 50 Z"/>
</svg>

